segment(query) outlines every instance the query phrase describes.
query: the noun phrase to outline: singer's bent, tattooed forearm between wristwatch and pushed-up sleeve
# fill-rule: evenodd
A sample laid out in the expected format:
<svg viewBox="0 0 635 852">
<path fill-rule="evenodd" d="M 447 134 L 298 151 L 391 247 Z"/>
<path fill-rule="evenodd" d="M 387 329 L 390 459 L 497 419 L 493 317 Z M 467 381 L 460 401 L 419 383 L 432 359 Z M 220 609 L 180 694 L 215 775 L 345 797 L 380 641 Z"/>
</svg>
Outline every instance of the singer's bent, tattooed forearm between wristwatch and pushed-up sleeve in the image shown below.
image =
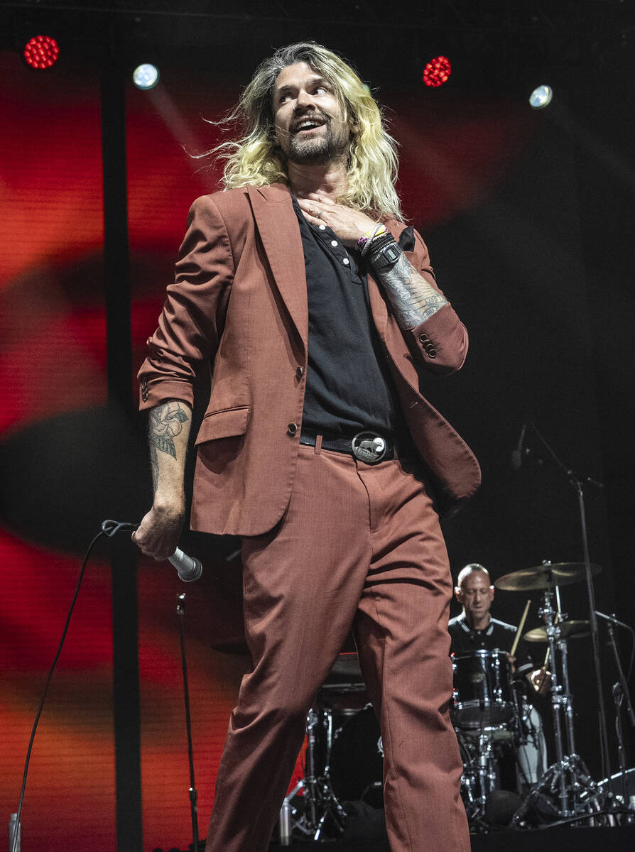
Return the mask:
<svg viewBox="0 0 635 852">
<path fill-rule="evenodd" d="M 401 255 L 394 267 L 373 274 L 384 286 L 403 329 L 415 328 L 447 305 L 445 296 L 419 275 L 405 255 Z"/>
</svg>

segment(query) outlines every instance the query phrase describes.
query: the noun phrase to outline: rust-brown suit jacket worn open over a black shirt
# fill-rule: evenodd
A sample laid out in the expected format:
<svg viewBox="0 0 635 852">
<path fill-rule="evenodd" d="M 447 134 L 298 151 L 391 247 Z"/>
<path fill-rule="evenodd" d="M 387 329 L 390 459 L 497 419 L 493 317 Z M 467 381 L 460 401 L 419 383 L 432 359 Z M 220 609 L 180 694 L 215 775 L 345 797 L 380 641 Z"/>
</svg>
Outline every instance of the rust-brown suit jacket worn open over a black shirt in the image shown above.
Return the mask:
<svg viewBox="0 0 635 852">
<path fill-rule="evenodd" d="M 400 222 L 387 223 L 395 237 Z M 419 234 L 407 252 L 434 276 Z M 435 285 L 436 286 L 436 285 Z M 476 458 L 419 392 L 420 379 L 457 370 L 467 334 L 444 306 L 403 332 L 369 276 L 372 316 L 413 441 L 451 509 L 476 491 Z M 191 525 L 260 535 L 289 503 L 302 424 L 309 314 L 302 239 L 287 187 L 243 187 L 194 201 L 159 328 L 141 366 L 141 408 L 192 404 L 195 371 L 212 365 L 211 396 L 196 438 Z"/>
</svg>

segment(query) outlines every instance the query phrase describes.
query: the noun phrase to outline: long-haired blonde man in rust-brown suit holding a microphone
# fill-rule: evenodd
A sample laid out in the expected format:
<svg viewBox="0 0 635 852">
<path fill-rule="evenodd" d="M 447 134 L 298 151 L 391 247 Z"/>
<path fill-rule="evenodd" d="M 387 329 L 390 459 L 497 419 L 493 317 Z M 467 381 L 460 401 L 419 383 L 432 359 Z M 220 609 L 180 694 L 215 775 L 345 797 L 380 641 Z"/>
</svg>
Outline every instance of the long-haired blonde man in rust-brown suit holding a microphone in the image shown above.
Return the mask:
<svg viewBox="0 0 635 852">
<path fill-rule="evenodd" d="M 211 365 L 191 526 L 243 537 L 243 678 L 207 852 L 264 852 L 307 712 L 349 630 L 381 725 L 392 852 L 467 852 L 448 716 L 452 581 L 439 527 L 476 490 L 420 393 L 467 335 L 400 221 L 395 143 L 352 68 L 315 43 L 257 68 L 222 192 L 197 199 L 139 374 L 157 560 L 182 527 L 193 378 Z M 424 624 L 422 626 L 422 613 Z"/>
</svg>

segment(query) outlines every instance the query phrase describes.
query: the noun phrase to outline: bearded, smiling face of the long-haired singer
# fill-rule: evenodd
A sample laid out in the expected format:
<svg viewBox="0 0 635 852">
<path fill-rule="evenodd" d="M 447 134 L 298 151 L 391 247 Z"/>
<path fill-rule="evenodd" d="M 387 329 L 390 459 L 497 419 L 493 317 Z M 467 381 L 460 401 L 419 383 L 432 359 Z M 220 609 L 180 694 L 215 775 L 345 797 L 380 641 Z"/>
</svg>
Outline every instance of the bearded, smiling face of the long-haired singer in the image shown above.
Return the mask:
<svg viewBox="0 0 635 852">
<path fill-rule="evenodd" d="M 298 165 L 324 165 L 349 149 L 350 125 L 331 83 L 306 62 L 283 68 L 274 85 L 275 133 Z"/>
</svg>

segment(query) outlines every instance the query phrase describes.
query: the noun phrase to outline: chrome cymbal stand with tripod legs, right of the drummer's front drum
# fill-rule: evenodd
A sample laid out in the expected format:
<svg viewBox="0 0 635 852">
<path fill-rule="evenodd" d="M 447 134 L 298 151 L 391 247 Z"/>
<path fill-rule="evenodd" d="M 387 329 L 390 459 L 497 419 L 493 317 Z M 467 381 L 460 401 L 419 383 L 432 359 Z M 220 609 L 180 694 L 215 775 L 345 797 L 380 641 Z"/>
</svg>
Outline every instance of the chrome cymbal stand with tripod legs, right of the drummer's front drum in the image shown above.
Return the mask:
<svg viewBox="0 0 635 852">
<path fill-rule="evenodd" d="M 548 562 L 543 563 L 548 565 Z M 547 572 L 548 587 L 543 592 L 544 601 L 539 609 L 539 615 L 546 621 L 546 635 L 549 643 L 549 652 L 551 655 L 551 710 L 553 715 L 553 728 L 556 741 L 556 763 L 551 764 L 546 773 L 542 776 L 539 782 L 534 786 L 534 789 L 529 792 L 528 797 L 524 800 L 521 806 L 511 819 L 510 826 L 516 827 L 520 824 L 524 815 L 536 803 L 543 791 L 555 792 L 560 801 L 559 816 L 563 819 L 583 815 L 581 809 L 588 810 L 591 807 L 593 810 L 599 810 L 597 799 L 603 795 L 599 786 L 592 780 L 588 769 L 581 757 L 575 752 L 574 740 L 574 711 L 573 699 L 569 688 L 569 666 L 567 660 L 567 640 L 562 636 L 562 631 L 554 616 L 560 618 L 561 621 L 566 619 L 564 613 L 556 613 L 556 610 L 551 606 L 551 598 L 554 593 L 551 584 L 551 577 Z M 558 683 L 557 678 L 557 654 L 556 649 L 560 652 L 560 665 L 563 673 L 563 685 Z M 568 754 L 564 754 L 563 749 L 563 724 L 561 714 L 564 719 L 564 728 L 567 736 Z M 569 777 L 569 784 L 567 778 Z M 580 794 L 586 792 L 584 803 L 580 802 Z M 585 814 L 586 815 L 586 814 Z"/>
</svg>

